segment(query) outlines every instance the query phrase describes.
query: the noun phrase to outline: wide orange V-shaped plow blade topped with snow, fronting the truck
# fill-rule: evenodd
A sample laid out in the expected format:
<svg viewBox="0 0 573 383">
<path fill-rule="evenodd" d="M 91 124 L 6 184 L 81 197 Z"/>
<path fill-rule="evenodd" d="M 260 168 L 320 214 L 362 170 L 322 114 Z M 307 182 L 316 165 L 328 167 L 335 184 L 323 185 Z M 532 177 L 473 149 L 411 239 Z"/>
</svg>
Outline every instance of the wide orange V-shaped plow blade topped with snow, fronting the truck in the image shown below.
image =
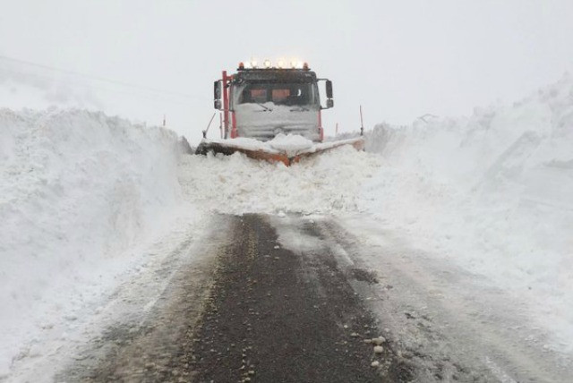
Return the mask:
<svg viewBox="0 0 573 383">
<path fill-rule="evenodd" d="M 303 158 L 312 157 L 327 150 L 336 149 L 345 145 L 350 145 L 356 150 L 363 150 L 363 137 L 349 140 L 322 142 L 312 145 L 311 148 L 300 150 L 275 149 L 261 141 L 253 144 L 253 140 L 248 139 L 202 140 L 195 150 L 195 154 L 207 155 L 207 153 L 211 152 L 214 154 L 221 153 L 224 155 L 231 155 L 239 152 L 244 153 L 244 155 L 250 158 L 265 160 L 272 163 L 282 162 L 286 166 L 290 166 L 299 162 Z"/>
</svg>

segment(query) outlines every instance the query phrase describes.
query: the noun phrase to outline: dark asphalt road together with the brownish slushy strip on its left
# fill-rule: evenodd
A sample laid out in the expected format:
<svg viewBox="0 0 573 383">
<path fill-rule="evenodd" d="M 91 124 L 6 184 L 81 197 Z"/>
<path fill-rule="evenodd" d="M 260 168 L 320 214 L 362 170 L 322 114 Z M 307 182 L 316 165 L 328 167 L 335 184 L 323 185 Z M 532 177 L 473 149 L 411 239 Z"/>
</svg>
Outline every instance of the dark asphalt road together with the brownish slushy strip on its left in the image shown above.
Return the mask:
<svg viewBox="0 0 573 383">
<path fill-rule="evenodd" d="M 58 381 L 401 382 L 413 372 L 328 249 L 288 251 L 264 216 L 226 225 L 201 272 L 181 268 L 154 311 L 108 328 Z M 312 223 L 304 234 L 320 237 Z M 372 366 L 372 362 L 374 366 Z"/>
</svg>

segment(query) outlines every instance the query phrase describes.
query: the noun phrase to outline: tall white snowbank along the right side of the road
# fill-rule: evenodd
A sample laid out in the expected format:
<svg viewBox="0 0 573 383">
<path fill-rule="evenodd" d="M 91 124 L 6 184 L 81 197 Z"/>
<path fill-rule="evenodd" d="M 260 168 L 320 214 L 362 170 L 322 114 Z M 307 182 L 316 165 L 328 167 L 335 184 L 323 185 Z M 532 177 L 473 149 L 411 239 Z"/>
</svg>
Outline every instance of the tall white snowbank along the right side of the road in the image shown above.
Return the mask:
<svg viewBox="0 0 573 383">
<path fill-rule="evenodd" d="M 363 207 L 534 302 L 573 350 L 573 78 L 469 118 L 376 126 Z"/>
</svg>

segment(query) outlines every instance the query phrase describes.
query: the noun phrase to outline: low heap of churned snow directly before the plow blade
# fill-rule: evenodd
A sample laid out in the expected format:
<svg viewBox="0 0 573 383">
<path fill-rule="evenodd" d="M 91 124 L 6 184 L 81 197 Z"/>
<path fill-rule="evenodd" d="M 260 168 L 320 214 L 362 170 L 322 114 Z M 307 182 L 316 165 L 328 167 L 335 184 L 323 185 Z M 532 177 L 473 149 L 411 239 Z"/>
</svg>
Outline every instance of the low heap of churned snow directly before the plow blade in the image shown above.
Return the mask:
<svg viewBox="0 0 573 383">
<path fill-rule="evenodd" d="M 337 213 L 357 211 L 362 184 L 380 158 L 350 146 L 293 166 L 235 153 L 185 156 L 180 180 L 193 204 L 222 213 Z"/>
</svg>

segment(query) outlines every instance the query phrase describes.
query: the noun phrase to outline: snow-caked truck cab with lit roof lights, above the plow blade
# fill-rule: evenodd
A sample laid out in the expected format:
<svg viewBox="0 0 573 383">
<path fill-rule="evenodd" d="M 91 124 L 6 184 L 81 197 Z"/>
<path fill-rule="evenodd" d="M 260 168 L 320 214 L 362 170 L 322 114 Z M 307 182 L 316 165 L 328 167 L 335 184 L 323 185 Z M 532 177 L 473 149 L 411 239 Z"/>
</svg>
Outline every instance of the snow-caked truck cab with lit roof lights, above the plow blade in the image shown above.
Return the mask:
<svg viewBox="0 0 573 383">
<path fill-rule="evenodd" d="M 319 81 L 326 81 L 326 106 L 321 106 Z M 334 106 L 332 82 L 318 79 L 308 64 L 283 68 L 266 61 L 259 68 L 241 63 L 235 74 L 224 71 L 214 89 L 214 106 L 224 115 L 224 138 L 272 140 L 284 133 L 321 142 L 321 110 Z"/>
</svg>

